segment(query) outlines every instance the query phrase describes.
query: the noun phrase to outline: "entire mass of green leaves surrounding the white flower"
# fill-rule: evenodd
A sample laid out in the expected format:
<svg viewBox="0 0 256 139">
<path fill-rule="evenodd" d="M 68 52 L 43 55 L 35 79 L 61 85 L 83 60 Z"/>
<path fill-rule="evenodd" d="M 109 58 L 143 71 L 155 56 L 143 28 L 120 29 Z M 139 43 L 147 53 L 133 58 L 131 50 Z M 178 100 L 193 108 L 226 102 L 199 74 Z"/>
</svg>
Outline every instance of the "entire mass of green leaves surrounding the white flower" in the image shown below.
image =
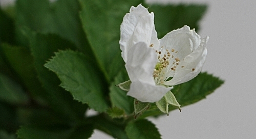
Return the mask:
<svg viewBox="0 0 256 139">
<path fill-rule="evenodd" d="M 159 38 L 184 24 L 198 31 L 207 9 L 142 0 L 17 0 L 0 9 L 0 138 L 89 138 L 94 129 L 115 138 L 161 138 L 144 119 L 162 115 L 156 105 L 144 106 L 135 120 L 134 99 L 115 86 L 129 80 L 120 24 L 140 3 L 155 13 Z M 185 106 L 221 84 L 201 73 L 172 92 Z M 98 114 L 87 116 L 90 108 Z"/>
</svg>

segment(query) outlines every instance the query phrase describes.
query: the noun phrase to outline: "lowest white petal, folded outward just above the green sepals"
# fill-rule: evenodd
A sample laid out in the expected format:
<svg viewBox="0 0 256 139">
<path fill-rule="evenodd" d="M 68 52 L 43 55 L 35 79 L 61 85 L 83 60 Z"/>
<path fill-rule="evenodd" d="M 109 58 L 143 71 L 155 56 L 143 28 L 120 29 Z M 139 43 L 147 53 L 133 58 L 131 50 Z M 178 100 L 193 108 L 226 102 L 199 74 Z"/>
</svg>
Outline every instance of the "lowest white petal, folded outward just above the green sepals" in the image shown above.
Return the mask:
<svg viewBox="0 0 256 139">
<path fill-rule="evenodd" d="M 173 87 L 166 88 L 164 86 L 156 86 L 147 84 L 141 80 L 132 82 L 130 91 L 127 95 L 138 99 L 141 102 L 156 102 L 159 101 Z"/>
</svg>

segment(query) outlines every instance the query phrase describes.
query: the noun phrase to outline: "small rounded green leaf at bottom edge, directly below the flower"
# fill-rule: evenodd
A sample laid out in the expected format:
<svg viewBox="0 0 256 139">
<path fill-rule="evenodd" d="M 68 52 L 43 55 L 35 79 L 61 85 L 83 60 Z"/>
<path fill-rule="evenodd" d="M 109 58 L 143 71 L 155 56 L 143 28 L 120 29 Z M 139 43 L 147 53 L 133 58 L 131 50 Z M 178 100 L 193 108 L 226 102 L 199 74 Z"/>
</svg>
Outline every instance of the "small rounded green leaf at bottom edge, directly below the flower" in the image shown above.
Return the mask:
<svg viewBox="0 0 256 139">
<path fill-rule="evenodd" d="M 130 139 L 158 139 L 161 135 L 156 126 L 147 120 L 130 122 L 125 131 Z"/>
</svg>

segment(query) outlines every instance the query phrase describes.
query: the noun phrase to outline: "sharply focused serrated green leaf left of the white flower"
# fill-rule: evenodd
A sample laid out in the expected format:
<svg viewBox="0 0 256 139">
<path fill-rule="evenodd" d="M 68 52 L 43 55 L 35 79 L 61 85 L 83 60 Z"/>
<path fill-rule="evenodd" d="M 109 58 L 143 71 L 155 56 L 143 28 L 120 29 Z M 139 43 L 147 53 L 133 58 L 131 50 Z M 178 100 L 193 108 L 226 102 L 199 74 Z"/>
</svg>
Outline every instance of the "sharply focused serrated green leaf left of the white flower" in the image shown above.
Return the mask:
<svg viewBox="0 0 256 139">
<path fill-rule="evenodd" d="M 104 100 L 101 77 L 95 63 L 71 50 L 59 51 L 45 66 L 55 72 L 61 80 L 61 87 L 70 91 L 74 99 L 88 103 L 98 112 L 104 112 L 108 103 Z"/>
</svg>

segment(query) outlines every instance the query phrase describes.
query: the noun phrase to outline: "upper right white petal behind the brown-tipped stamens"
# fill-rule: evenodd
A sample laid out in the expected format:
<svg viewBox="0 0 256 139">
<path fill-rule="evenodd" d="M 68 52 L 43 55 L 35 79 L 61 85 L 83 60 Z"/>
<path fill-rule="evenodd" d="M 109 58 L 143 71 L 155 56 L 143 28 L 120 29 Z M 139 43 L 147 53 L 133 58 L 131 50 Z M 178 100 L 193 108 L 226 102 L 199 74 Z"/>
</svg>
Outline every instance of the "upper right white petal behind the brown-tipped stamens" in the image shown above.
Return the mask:
<svg viewBox="0 0 256 139">
<path fill-rule="evenodd" d="M 181 29 L 174 30 L 160 39 L 160 46 L 168 49 L 174 58 L 184 59 L 186 55 L 197 49 L 201 43 L 201 37 L 185 25 Z M 173 52 L 171 50 L 174 50 Z M 163 52 L 162 52 L 163 54 Z"/>
</svg>

